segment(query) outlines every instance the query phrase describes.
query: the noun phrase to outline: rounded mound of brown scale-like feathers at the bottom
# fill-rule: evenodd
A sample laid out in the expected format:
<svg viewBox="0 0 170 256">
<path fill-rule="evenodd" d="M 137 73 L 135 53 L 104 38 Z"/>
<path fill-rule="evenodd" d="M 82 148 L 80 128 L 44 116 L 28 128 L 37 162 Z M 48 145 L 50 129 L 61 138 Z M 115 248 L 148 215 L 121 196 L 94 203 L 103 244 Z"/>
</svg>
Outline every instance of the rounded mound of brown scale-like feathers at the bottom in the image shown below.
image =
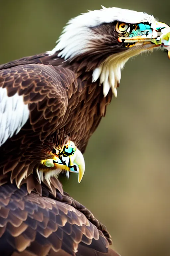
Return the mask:
<svg viewBox="0 0 170 256">
<path fill-rule="evenodd" d="M 0 255 L 119 256 L 106 227 L 67 193 L 54 200 L 44 188 L 39 196 L 6 184 L 0 198 Z"/>
</svg>

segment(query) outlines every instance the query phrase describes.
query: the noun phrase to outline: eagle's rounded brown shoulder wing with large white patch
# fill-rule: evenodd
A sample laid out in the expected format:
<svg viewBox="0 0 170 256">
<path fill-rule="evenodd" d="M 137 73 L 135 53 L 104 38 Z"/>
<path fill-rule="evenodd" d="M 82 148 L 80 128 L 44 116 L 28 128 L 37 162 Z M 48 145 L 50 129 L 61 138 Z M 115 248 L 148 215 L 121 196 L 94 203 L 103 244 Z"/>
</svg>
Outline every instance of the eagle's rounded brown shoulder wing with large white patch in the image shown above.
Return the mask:
<svg viewBox="0 0 170 256">
<path fill-rule="evenodd" d="M 68 105 L 63 84 L 73 83 L 72 71 L 65 73 L 70 78 L 42 64 L 0 70 L 0 146 L 18 134 L 28 120 L 41 140 L 55 131 Z"/>
</svg>

